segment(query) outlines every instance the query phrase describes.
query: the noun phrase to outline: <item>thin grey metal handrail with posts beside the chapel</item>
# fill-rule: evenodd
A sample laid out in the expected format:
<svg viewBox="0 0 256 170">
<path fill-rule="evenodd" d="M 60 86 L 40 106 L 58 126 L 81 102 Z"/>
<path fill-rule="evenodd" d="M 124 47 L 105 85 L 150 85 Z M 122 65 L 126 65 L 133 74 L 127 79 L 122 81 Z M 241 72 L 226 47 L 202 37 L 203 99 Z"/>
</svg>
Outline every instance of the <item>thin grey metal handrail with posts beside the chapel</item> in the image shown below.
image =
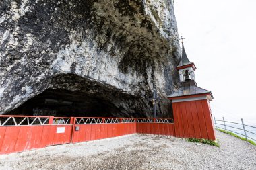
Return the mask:
<svg viewBox="0 0 256 170">
<path fill-rule="evenodd" d="M 255 130 L 256 130 L 256 127 L 255 127 L 255 126 L 250 126 L 250 125 L 244 124 L 243 119 L 241 119 L 241 122 L 242 122 L 242 123 L 238 123 L 238 122 L 226 121 L 226 120 L 224 120 L 224 117 L 222 117 L 222 118 L 223 118 L 223 120 L 216 120 L 215 117 L 214 117 L 214 124 L 215 124 L 215 127 L 216 127 L 216 128 L 221 128 L 221 129 L 223 129 L 223 130 L 226 130 L 226 132 L 229 131 L 229 132 L 233 132 L 234 134 L 238 134 L 238 135 L 240 135 L 240 136 L 245 136 L 246 140 L 248 140 L 248 138 L 250 138 L 251 140 L 256 141 L 256 138 L 251 138 L 251 137 L 247 136 L 247 132 L 249 132 L 250 134 L 255 134 L 255 135 L 256 135 L 256 133 L 250 132 L 249 130 L 246 130 L 246 129 L 245 129 L 245 126 L 247 126 L 247 127 L 255 128 Z M 217 123 L 217 122 L 218 122 L 218 123 Z M 223 124 L 220 124 L 219 122 L 223 122 Z M 243 128 L 237 128 L 237 127 L 234 127 L 234 126 L 230 126 L 230 124 L 227 125 L 226 123 L 239 124 L 239 125 L 243 126 Z M 218 127 L 217 125 L 224 126 L 224 128 Z M 228 129 L 227 127 L 234 128 L 234 129 L 238 129 L 238 130 L 243 130 L 243 132 L 244 132 L 245 134 L 241 134 L 241 133 L 238 133 L 238 132 L 234 132 L 233 130 Z"/>
</svg>

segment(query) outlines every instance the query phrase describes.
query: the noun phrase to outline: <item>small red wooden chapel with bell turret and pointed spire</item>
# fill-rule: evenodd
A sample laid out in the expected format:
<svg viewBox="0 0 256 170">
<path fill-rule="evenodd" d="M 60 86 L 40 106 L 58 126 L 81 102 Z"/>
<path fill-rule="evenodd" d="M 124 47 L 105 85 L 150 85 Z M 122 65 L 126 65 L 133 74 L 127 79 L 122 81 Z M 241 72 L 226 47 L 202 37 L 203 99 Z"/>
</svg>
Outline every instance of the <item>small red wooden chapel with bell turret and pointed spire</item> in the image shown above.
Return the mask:
<svg viewBox="0 0 256 170">
<path fill-rule="evenodd" d="M 211 91 L 197 87 L 193 62 L 187 58 L 182 42 L 179 71 L 181 88 L 168 96 L 172 101 L 175 136 L 181 138 L 205 138 L 216 140 L 210 102 Z"/>
</svg>

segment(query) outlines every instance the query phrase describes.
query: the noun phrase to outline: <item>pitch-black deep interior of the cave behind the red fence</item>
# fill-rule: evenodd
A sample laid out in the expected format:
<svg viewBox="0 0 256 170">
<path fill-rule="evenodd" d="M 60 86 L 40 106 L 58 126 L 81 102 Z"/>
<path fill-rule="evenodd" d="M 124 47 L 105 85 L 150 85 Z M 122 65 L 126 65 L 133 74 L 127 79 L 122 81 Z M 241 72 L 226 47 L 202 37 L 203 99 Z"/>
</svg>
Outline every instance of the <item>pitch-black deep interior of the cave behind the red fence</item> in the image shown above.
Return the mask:
<svg viewBox="0 0 256 170">
<path fill-rule="evenodd" d="M 109 117 L 113 113 L 120 112 L 122 110 L 110 101 L 88 93 L 66 89 L 46 89 L 8 114 Z"/>
</svg>

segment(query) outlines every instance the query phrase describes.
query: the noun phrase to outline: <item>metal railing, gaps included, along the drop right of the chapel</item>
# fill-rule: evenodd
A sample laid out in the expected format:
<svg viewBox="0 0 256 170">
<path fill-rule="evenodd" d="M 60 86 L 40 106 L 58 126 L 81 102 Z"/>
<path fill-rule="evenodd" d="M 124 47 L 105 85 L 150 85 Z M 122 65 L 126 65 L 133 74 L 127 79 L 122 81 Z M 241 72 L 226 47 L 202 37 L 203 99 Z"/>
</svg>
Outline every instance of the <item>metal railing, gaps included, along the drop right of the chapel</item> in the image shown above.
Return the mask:
<svg viewBox="0 0 256 170">
<path fill-rule="evenodd" d="M 245 137 L 246 140 L 254 140 L 256 142 L 256 127 L 244 124 L 243 119 L 241 119 L 241 123 L 238 123 L 226 121 L 224 117 L 222 117 L 222 120 L 216 120 L 214 117 L 214 126 L 226 132 L 233 132 L 238 136 Z"/>
</svg>

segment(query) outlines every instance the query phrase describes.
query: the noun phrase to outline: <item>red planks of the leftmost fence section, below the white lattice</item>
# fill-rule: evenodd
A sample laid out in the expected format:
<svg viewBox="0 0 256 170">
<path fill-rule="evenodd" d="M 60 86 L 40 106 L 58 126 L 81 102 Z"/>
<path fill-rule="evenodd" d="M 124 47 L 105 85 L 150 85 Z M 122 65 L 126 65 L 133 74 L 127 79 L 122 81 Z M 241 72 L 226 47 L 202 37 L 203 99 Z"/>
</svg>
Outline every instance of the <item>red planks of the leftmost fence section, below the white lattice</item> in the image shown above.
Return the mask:
<svg viewBox="0 0 256 170">
<path fill-rule="evenodd" d="M 57 134 L 58 127 L 65 127 Z M 0 126 L 0 154 L 29 151 L 70 142 L 72 125 Z"/>
</svg>

